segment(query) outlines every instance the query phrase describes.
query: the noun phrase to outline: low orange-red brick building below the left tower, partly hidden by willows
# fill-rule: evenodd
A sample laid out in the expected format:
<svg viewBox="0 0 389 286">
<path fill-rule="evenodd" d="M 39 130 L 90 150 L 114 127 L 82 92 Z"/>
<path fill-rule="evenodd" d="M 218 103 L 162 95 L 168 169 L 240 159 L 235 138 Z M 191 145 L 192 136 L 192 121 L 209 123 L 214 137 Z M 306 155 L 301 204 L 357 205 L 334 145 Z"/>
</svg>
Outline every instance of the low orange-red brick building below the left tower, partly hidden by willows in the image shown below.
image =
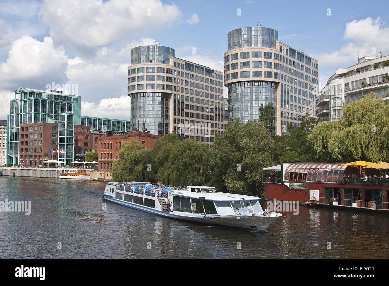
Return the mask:
<svg viewBox="0 0 389 286">
<path fill-rule="evenodd" d="M 117 152 L 122 149 L 123 142 L 136 139 L 146 148 L 152 148 L 154 143 L 163 138 L 163 135 L 150 134 L 150 131 L 128 132 L 126 135 L 99 136 L 97 139 L 98 170 L 110 171 L 112 162 L 117 159 Z"/>
</svg>

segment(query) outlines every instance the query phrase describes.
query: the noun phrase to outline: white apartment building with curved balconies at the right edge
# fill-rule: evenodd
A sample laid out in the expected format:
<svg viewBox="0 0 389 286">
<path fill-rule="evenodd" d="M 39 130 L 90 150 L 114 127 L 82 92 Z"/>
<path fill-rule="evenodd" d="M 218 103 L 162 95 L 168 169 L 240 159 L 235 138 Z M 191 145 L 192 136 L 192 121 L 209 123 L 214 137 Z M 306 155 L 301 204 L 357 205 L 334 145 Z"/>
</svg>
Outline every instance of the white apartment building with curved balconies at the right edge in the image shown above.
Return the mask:
<svg viewBox="0 0 389 286">
<path fill-rule="evenodd" d="M 368 93 L 388 97 L 388 72 L 389 55 L 364 56 L 351 67 L 337 68 L 322 89 L 322 97 L 316 100 L 319 121 L 337 120 L 342 116 L 343 105 Z"/>
</svg>

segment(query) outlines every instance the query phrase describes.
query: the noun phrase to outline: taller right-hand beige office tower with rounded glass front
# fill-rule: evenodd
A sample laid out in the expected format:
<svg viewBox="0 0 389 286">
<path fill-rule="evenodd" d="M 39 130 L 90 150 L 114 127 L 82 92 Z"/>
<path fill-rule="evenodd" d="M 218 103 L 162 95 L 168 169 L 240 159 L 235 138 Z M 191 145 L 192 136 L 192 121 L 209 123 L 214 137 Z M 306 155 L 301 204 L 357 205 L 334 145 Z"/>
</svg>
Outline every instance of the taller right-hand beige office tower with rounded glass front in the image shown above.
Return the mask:
<svg viewBox="0 0 389 286">
<path fill-rule="evenodd" d="M 259 119 L 265 105 L 275 111 L 273 131 L 286 135 L 301 116 L 315 116 L 318 61 L 278 39 L 265 27 L 228 32 L 224 53 L 224 86 L 228 88 L 229 119 Z"/>
</svg>

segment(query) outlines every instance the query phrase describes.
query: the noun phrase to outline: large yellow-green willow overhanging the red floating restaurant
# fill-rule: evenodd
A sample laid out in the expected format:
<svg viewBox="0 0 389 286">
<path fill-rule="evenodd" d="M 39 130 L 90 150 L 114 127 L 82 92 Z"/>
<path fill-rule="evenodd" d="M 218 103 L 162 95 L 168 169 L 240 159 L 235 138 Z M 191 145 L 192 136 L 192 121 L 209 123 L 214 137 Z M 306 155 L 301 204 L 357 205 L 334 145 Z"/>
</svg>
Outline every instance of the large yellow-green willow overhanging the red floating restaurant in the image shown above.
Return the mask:
<svg viewBox="0 0 389 286">
<path fill-rule="evenodd" d="M 308 140 L 317 153 L 335 160 L 389 160 L 389 105 L 374 93 L 342 108 L 338 121 L 315 126 Z"/>
</svg>

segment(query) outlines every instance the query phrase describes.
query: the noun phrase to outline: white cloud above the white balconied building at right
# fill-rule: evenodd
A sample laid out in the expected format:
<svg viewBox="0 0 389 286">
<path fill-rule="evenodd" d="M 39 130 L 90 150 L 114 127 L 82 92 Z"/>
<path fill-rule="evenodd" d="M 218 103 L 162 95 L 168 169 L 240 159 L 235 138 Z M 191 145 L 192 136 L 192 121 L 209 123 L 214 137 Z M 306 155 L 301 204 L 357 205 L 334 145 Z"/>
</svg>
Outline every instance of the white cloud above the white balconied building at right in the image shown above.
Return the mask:
<svg viewBox="0 0 389 286">
<path fill-rule="evenodd" d="M 363 56 L 378 56 L 389 54 L 389 28 L 384 27 L 382 19 L 367 17 L 359 21 L 353 20 L 346 23 L 343 40 L 347 40 L 340 49 L 331 53 L 312 54 L 319 60 L 319 67 L 324 68 L 325 73 L 335 73 L 336 68 L 349 67 Z"/>
</svg>

